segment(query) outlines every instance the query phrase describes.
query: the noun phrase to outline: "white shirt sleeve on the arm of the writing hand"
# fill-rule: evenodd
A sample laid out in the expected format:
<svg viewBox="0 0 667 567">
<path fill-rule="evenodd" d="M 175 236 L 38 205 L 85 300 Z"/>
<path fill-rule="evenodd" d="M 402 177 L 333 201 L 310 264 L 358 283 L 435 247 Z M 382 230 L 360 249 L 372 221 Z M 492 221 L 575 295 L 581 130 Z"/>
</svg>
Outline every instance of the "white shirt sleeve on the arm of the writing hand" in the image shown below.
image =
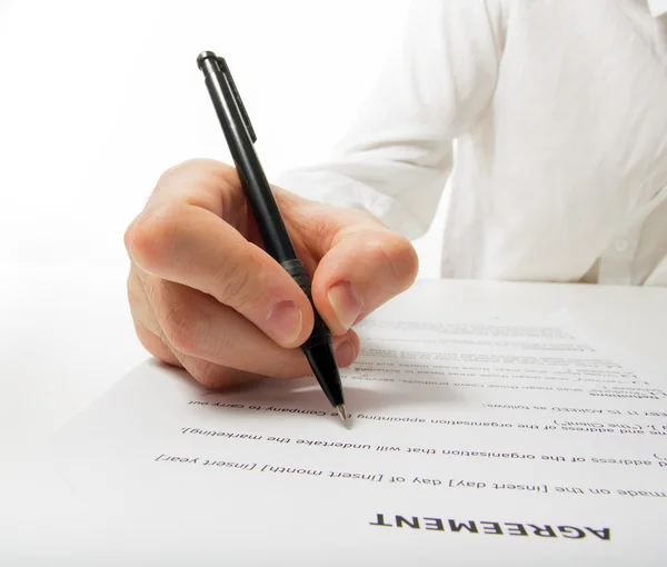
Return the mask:
<svg viewBox="0 0 667 567">
<path fill-rule="evenodd" d="M 491 99 L 502 11 L 500 0 L 414 0 L 402 41 L 330 159 L 278 185 L 365 209 L 410 239 L 426 232 L 452 168 L 452 140 Z"/>
</svg>

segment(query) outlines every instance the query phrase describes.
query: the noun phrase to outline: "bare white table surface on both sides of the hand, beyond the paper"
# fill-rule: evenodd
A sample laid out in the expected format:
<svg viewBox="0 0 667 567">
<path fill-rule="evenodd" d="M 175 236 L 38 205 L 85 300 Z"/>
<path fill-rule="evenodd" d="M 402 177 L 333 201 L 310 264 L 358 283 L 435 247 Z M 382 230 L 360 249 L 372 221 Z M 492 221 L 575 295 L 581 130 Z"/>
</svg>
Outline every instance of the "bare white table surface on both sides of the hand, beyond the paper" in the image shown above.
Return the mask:
<svg viewBox="0 0 667 567">
<path fill-rule="evenodd" d="M 148 354 L 133 332 L 126 266 L 0 269 L 2 466 L 26 458 Z M 663 288 L 420 280 L 395 301 L 501 317 L 566 310 L 619 352 L 667 368 Z"/>
</svg>

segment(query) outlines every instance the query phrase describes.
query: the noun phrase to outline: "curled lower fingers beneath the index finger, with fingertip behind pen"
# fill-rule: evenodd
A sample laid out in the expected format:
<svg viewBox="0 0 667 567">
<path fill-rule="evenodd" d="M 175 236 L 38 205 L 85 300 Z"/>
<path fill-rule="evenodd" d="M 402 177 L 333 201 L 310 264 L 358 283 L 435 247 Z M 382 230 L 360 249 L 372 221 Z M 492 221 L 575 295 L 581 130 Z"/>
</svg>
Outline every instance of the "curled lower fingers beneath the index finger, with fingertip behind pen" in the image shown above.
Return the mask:
<svg viewBox="0 0 667 567">
<path fill-rule="evenodd" d="M 150 276 L 142 276 L 141 281 L 147 301 L 132 305 L 131 299 L 131 306 L 142 344 L 162 360 L 176 358 L 205 386 L 229 386 L 255 375 L 296 378 L 311 374 L 301 349 L 280 347 L 212 297 Z M 349 366 L 359 352 L 359 339 L 350 331 L 338 337 L 334 348 L 339 365 Z"/>
</svg>

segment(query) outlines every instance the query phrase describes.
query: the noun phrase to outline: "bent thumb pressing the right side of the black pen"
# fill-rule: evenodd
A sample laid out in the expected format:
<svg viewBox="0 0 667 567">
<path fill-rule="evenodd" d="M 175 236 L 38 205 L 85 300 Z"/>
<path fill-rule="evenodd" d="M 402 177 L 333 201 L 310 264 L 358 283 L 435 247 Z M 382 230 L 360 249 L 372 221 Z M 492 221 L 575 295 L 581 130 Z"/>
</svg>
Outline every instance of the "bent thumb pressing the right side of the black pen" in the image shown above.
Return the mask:
<svg viewBox="0 0 667 567">
<path fill-rule="evenodd" d="M 334 335 L 408 289 L 419 261 L 412 245 L 376 222 L 346 227 L 331 241 L 312 279 L 312 299 Z"/>
</svg>

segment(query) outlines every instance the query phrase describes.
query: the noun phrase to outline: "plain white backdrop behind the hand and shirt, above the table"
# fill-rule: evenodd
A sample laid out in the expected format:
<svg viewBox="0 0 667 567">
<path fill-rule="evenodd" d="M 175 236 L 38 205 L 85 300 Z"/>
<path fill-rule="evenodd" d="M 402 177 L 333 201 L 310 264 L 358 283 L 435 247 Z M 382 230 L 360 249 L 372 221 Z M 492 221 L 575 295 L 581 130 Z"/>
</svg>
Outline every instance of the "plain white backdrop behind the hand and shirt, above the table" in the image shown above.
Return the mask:
<svg viewBox="0 0 667 567">
<path fill-rule="evenodd" d="M 0 262 L 127 263 L 126 226 L 168 167 L 230 161 L 197 69 L 229 62 L 269 178 L 354 120 L 406 0 L 0 0 Z M 436 227 L 417 242 L 437 276 Z"/>
</svg>

